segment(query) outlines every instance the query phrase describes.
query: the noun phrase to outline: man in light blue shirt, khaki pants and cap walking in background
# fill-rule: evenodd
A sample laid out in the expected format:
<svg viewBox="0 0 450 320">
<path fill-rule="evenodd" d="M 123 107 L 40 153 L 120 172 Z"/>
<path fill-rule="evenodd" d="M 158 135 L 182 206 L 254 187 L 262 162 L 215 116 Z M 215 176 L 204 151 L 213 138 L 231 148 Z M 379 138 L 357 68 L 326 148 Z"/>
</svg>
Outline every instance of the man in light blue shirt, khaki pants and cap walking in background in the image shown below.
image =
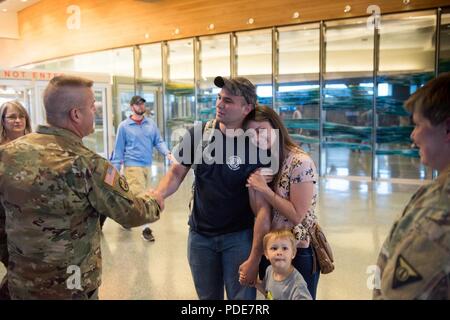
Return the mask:
<svg viewBox="0 0 450 320">
<path fill-rule="evenodd" d="M 145 102 L 140 96 L 131 98 L 130 107 L 133 114 L 119 124 L 111 159 L 111 163 L 118 171 L 123 165 L 123 173 L 134 194 L 139 194 L 150 187 L 153 147 L 169 160 L 172 159 L 155 122 L 144 116 Z M 142 237 L 147 241 L 155 241 L 149 225 L 144 226 Z"/>
</svg>

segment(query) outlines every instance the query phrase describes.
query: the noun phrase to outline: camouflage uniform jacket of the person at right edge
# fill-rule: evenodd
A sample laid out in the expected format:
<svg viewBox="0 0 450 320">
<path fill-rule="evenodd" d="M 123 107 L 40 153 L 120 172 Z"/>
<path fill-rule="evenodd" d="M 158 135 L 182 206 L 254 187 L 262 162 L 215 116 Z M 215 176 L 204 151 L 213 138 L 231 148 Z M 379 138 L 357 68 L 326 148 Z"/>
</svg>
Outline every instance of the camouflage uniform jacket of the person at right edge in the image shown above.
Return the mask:
<svg viewBox="0 0 450 320">
<path fill-rule="evenodd" d="M 450 167 L 413 195 L 378 266 L 376 299 L 450 299 Z"/>
</svg>

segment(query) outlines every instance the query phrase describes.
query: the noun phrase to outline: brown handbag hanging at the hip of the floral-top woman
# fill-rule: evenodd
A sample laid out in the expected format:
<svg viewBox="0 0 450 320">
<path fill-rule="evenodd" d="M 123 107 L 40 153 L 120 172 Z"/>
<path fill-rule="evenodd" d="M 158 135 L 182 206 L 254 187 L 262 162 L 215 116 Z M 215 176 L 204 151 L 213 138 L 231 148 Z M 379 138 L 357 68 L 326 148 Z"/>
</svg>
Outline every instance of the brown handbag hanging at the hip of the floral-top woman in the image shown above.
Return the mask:
<svg viewBox="0 0 450 320">
<path fill-rule="evenodd" d="M 334 270 L 333 252 L 322 228 L 316 223 L 309 229 L 308 233 L 311 237 L 311 245 L 319 263 L 320 272 L 323 274 L 332 272 Z"/>
</svg>

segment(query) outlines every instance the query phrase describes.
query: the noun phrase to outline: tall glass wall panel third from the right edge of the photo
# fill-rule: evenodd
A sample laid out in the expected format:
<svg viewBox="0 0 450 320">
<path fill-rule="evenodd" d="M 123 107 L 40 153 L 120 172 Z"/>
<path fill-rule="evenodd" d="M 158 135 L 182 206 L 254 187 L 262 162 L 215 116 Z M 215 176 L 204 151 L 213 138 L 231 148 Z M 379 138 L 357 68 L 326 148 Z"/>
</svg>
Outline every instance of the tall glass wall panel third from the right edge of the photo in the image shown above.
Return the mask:
<svg viewBox="0 0 450 320">
<path fill-rule="evenodd" d="M 372 172 L 373 28 L 364 20 L 326 23 L 323 146 L 326 174 Z"/>
</svg>

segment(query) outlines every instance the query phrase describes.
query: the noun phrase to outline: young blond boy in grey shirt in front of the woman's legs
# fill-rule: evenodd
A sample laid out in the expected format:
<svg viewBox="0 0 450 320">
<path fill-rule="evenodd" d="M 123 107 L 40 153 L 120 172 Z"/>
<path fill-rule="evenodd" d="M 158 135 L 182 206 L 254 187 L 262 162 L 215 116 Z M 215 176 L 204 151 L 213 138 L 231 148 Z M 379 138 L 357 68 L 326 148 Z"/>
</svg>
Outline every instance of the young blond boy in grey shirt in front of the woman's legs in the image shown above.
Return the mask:
<svg viewBox="0 0 450 320">
<path fill-rule="evenodd" d="M 274 230 L 264 236 L 264 254 L 270 261 L 266 275 L 256 288 L 268 300 L 312 300 L 305 280 L 292 265 L 297 252 L 290 230 Z"/>
</svg>

